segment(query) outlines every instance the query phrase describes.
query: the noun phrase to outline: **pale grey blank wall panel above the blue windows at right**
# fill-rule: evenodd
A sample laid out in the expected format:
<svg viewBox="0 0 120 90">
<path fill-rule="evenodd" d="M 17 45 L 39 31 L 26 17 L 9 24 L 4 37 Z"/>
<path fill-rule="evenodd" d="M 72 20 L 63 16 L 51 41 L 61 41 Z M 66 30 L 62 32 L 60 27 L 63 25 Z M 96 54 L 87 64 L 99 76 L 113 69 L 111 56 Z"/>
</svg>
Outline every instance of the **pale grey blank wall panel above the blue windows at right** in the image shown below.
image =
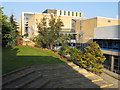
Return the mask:
<svg viewBox="0 0 120 90">
<path fill-rule="evenodd" d="M 120 25 L 98 27 L 94 29 L 94 39 L 120 39 Z"/>
</svg>

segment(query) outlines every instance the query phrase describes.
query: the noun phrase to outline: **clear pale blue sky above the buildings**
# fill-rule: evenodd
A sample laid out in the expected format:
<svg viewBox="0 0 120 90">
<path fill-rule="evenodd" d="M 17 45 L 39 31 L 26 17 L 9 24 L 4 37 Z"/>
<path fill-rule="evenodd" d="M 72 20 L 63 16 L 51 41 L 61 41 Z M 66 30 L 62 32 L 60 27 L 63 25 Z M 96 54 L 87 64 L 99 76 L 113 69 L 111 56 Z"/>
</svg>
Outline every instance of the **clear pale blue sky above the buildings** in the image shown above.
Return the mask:
<svg viewBox="0 0 120 90">
<path fill-rule="evenodd" d="M 4 14 L 12 13 L 18 20 L 22 12 L 42 13 L 45 9 L 82 12 L 86 18 L 116 18 L 118 2 L 2 2 Z"/>
</svg>

